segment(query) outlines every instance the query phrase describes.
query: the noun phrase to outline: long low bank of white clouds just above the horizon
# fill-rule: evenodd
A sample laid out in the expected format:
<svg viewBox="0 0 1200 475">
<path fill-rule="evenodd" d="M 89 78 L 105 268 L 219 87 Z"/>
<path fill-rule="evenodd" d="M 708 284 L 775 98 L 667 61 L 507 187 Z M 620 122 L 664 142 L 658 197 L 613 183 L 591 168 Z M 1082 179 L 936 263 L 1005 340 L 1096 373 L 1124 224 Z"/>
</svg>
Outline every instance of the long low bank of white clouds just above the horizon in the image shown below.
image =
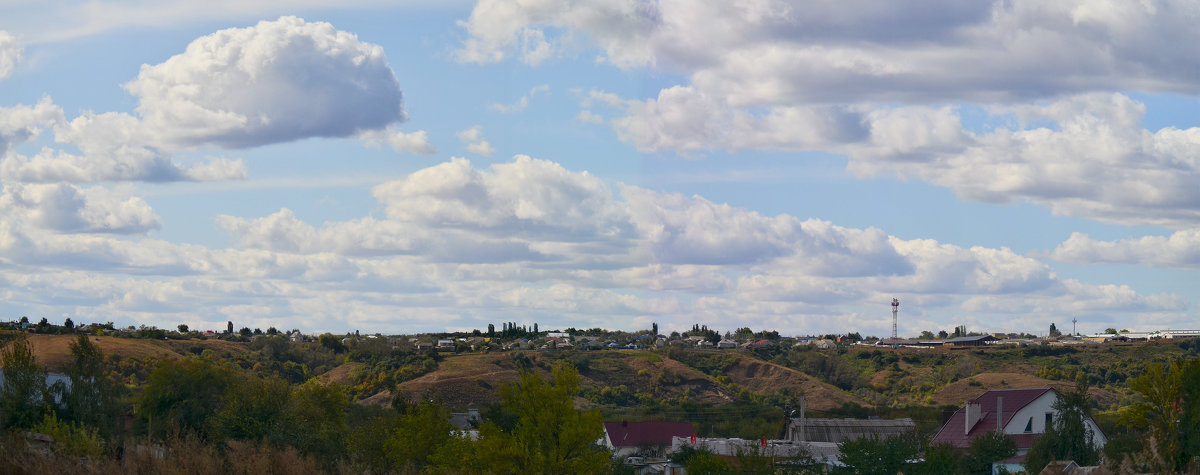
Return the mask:
<svg viewBox="0 0 1200 475">
<path fill-rule="evenodd" d="M 450 327 L 611 326 L 624 315 L 664 327 L 720 321 L 833 331 L 872 324 L 859 306 L 893 295 L 918 303 L 918 313 L 949 311 L 974 325 L 1186 306 L 1176 295 L 1063 279 L 1004 248 L 762 216 L 526 156 L 486 168 L 454 158 L 379 185 L 382 220 L 314 227 L 287 209 L 218 216 L 236 237 L 227 249 L 120 236 L 155 223 L 136 198 L 54 216 L 37 206 L 48 197 L 71 202 L 71 188 L 23 190 L 0 200 L 25 210 L 0 221 L 0 279 L 13 284 L 11 299 L 74 301 L 83 315 L 161 325 L 235 319 L 404 331 L 408 319 L 428 325 L 431 314 Z M 34 265 L 42 272 L 24 272 Z M 78 272 L 90 272 L 86 285 L 53 284 Z"/>
</svg>

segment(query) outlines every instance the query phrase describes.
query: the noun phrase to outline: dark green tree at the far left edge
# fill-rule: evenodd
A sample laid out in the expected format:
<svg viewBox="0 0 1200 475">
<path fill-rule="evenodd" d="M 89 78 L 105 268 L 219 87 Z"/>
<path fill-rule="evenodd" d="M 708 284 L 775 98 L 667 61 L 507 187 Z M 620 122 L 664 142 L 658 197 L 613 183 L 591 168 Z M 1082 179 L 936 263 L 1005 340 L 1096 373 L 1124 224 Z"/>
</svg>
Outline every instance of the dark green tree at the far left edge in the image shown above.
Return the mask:
<svg viewBox="0 0 1200 475">
<path fill-rule="evenodd" d="M 18 338 L 0 349 L 4 367 L 4 387 L 0 387 L 0 428 L 34 427 L 42 422 L 42 414 L 54 397 L 46 386 L 46 371 L 25 338 Z"/>
</svg>

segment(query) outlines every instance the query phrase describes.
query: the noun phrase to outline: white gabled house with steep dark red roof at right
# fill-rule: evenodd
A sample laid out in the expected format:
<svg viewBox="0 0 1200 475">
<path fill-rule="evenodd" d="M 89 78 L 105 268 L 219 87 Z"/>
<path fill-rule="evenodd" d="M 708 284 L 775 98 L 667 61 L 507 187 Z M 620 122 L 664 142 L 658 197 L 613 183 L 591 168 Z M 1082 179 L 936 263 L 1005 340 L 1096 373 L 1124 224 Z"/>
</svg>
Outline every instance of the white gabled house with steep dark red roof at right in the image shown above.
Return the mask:
<svg viewBox="0 0 1200 475">
<path fill-rule="evenodd" d="M 997 462 L 1008 471 L 1021 471 L 1025 455 L 1033 446 L 1033 439 L 1045 433 L 1058 411 L 1054 403 L 1058 391 L 1052 387 L 991 390 L 967 402 L 934 435 L 931 444 L 950 444 L 966 450 L 971 439 L 990 431 L 1002 431 L 1016 443 L 1016 456 Z M 1091 417 L 1085 421 L 1092 433 L 1092 441 L 1103 447 L 1108 438 Z M 995 467 L 995 465 L 994 465 Z"/>
</svg>

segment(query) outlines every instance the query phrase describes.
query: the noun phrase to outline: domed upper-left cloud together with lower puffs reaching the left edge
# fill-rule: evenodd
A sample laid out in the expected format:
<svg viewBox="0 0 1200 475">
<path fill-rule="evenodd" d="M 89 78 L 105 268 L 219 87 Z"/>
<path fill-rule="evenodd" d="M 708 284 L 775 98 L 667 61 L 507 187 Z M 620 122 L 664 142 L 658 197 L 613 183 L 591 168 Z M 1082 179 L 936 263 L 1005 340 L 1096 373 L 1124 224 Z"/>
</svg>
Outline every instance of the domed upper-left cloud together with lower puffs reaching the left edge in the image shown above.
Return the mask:
<svg viewBox="0 0 1200 475">
<path fill-rule="evenodd" d="M 2 40 L 2 38 L 0 38 Z M 2 41 L 0 41 L 2 44 Z M 193 149 L 240 149 L 311 137 L 358 137 L 433 154 L 425 131 L 400 132 L 402 94 L 383 48 L 295 17 L 193 41 L 125 84 L 137 115 L 85 110 L 70 121 L 49 98 L 0 108 L 0 176 L 25 182 L 245 179 L 239 158 L 180 164 Z M 40 152 L 14 145 L 53 127 Z"/>
</svg>

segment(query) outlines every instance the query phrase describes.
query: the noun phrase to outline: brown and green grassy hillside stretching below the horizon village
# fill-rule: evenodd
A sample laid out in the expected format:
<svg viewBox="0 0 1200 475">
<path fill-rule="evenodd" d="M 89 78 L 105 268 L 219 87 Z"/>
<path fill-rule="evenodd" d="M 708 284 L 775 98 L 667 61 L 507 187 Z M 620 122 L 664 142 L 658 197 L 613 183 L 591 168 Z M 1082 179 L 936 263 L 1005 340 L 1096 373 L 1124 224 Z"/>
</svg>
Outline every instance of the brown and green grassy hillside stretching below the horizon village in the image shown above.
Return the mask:
<svg viewBox="0 0 1200 475">
<path fill-rule="evenodd" d="M 74 337 L 28 338 L 38 361 L 50 371 L 60 371 Z M 516 380 L 522 368 L 546 372 L 556 363 L 569 362 L 582 378 L 580 405 L 611 410 L 739 402 L 787 407 L 794 405 L 800 395 L 816 411 L 853 405 L 961 405 L 990 389 L 1063 389 L 1076 379 L 1088 380 L 1099 409 L 1112 409 L 1133 402 L 1124 379 L 1138 374 L 1146 361 L 1195 356 L 1200 350 L 1200 339 L 984 349 L 673 348 L 466 353 L 421 363 L 395 356 L 388 360 L 386 355 L 396 351 L 391 347 L 335 354 L 316 343 L 281 341 L 90 338 L 109 359 L 126 366 L 206 354 L 293 381 L 317 377 L 353 386 L 356 397 L 371 404 L 388 403 L 390 387 L 395 386 L 410 398 L 438 399 L 451 408 L 487 407 L 499 401 L 498 389 Z"/>
</svg>

